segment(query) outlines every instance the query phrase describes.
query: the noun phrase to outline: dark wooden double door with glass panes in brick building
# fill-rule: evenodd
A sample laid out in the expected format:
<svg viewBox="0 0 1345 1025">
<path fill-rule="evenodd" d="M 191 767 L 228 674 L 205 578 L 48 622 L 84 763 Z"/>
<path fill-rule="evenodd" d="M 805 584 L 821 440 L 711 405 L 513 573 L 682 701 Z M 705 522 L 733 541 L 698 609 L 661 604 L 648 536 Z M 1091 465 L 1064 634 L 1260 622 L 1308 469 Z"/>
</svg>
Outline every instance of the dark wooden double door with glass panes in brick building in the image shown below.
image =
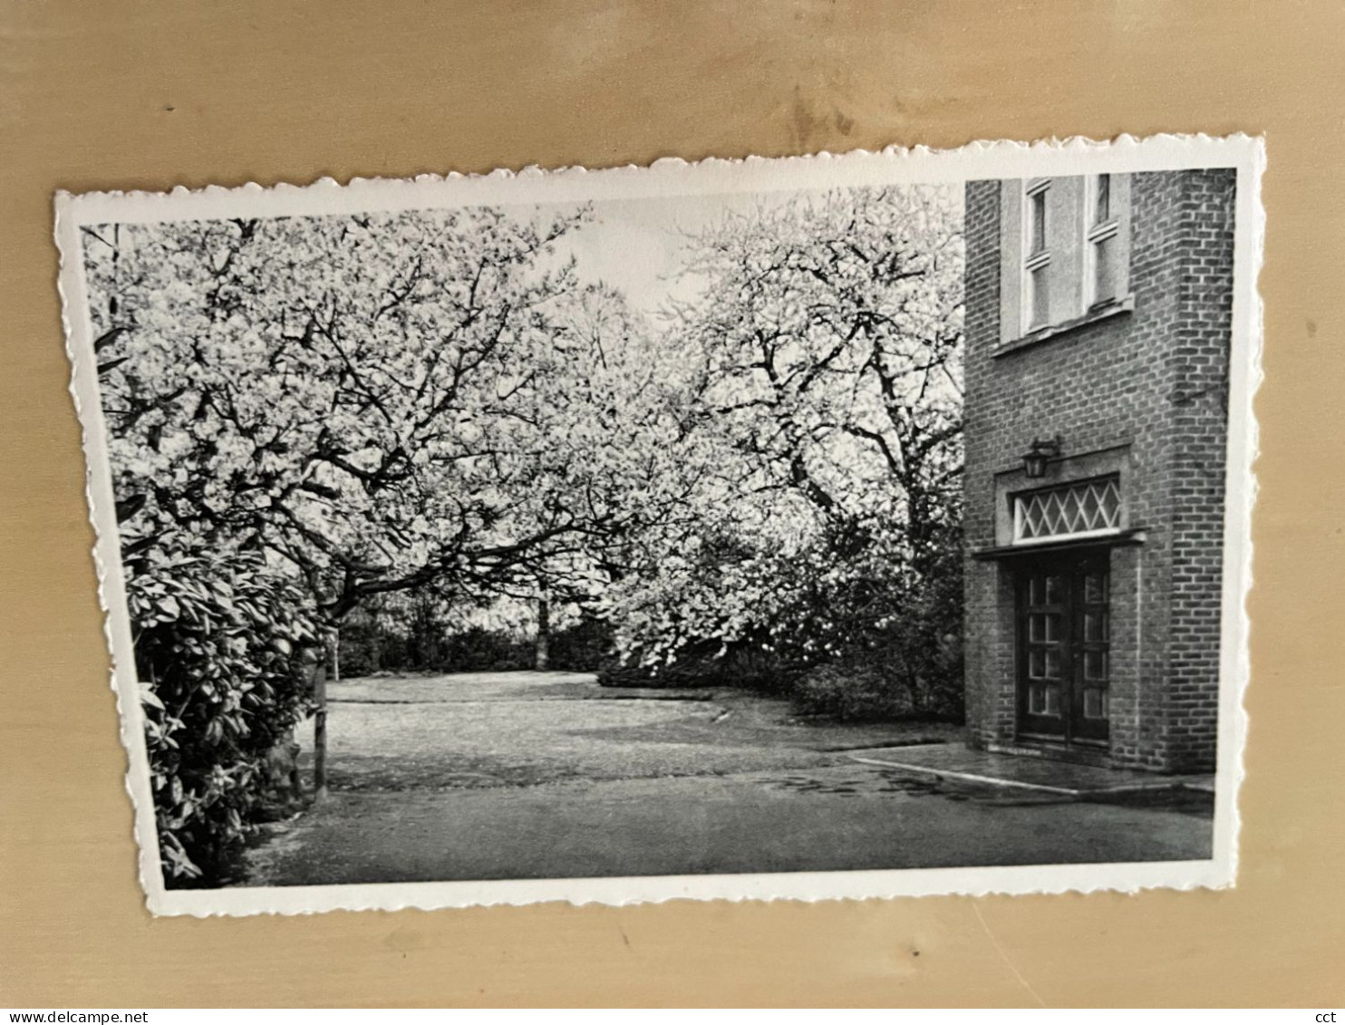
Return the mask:
<svg viewBox="0 0 1345 1025">
<path fill-rule="evenodd" d="M 1106 745 L 1111 716 L 1108 552 L 1022 560 L 1015 589 L 1018 736 Z"/>
</svg>

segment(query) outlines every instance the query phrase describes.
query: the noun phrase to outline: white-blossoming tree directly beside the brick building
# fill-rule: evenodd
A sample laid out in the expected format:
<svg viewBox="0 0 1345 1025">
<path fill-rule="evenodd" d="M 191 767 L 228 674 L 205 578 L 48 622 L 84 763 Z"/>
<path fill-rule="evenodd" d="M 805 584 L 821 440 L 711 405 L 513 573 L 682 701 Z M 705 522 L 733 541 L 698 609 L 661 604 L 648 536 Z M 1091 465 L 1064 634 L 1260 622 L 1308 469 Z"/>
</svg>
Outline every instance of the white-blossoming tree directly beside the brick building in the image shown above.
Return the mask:
<svg viewBox="0 0 1345 1025">
<path fill-rule="evenodd" d="M 686 517 L 605 595 L 619 644 L 664 669 L 702 642 L 722 658 L 764 638 L 791 665 L 863 658 L 894 630 L 912 659 L 946 647 L 960 628 L 955 191 L 795 195 L 687 245 L 702 288 L 670 334 L 694 354 L 690 428 L 660 482 Z M 917 687 L 947 675 L 911 673 Z"/>
</svg>

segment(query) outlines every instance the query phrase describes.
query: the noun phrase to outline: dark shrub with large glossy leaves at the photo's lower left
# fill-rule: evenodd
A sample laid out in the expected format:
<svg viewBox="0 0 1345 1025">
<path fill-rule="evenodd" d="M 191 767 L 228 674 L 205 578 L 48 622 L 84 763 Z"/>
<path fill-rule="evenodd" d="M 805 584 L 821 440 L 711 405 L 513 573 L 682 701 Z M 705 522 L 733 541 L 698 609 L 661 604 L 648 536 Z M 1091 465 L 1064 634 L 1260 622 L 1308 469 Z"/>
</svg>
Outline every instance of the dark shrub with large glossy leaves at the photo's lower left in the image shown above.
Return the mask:
<svg viewBox="0 0 1345 1025">
<path fill-rule="evenodd" d="M 165 885 L 219 885 L 264 818 L 273 752 L 309 708 L 313 611 L 261 554 L 126 569 Z"/>
</svg>

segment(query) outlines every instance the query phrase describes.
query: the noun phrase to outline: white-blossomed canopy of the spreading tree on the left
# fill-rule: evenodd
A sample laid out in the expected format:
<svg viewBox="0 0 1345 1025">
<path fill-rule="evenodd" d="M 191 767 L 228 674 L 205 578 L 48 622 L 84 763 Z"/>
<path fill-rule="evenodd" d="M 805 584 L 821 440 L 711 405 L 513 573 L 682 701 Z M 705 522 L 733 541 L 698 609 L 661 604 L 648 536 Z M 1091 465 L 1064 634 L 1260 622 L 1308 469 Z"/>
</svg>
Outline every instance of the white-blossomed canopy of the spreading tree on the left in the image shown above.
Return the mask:
<svg viewBox="0 0 1345 1025">
<path fill-rule="evenodd" d="M 605 476 L 633 467 L 611 443 L 643 422 L 624 373 L 639 354 L 599 338 L 628 327 L 619 299 L 581 288 L 554 249 L 584 219 L 90 230 L 128 547 L 172 527 L 260 545 L 332 620 L 428 586 L 453 601 L 584 586 L 578 542 L 623 519 Z"/>
</svg>

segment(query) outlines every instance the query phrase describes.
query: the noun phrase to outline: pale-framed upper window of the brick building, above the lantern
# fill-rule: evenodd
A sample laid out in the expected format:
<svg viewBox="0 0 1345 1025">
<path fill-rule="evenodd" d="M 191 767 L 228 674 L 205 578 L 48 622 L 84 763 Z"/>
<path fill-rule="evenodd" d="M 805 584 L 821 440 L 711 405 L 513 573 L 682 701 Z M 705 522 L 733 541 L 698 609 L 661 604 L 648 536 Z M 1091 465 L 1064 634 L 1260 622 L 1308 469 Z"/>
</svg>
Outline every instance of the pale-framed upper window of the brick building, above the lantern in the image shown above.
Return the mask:
<svg viewBox="0 0 1345 1025">
<path fill-rule="evenodd" d="M 1001 338 L 1067 324 L 1130 287 L 1128 175 L 1006 182 Z"/>
</svg>

